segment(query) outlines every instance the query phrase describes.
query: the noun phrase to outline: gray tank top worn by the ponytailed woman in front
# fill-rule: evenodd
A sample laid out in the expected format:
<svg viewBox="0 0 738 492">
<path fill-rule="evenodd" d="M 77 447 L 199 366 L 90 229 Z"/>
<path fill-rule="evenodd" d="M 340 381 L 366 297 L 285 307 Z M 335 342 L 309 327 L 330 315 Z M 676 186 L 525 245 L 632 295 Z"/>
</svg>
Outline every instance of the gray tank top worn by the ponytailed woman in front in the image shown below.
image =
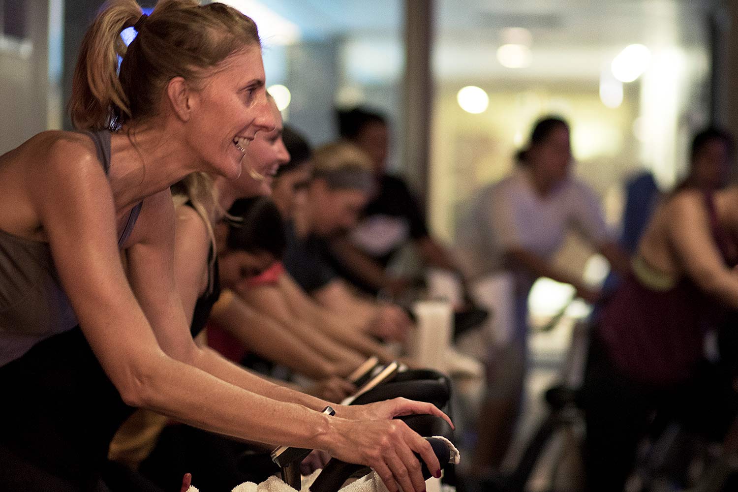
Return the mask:
<svg viewBox="0 0 738 492">
<path fill-rule="evenodd" d="M 110 132 L 88 135 L 107 174 Z M 141 205 L 131 209 L 118 239 L 119 248 L 131 235 Z M 23 356 L 41 340 L 76 325 L 77 317 L 61 286 L 49 244 L 0 229 L 0 367 Z"/>
</svg>

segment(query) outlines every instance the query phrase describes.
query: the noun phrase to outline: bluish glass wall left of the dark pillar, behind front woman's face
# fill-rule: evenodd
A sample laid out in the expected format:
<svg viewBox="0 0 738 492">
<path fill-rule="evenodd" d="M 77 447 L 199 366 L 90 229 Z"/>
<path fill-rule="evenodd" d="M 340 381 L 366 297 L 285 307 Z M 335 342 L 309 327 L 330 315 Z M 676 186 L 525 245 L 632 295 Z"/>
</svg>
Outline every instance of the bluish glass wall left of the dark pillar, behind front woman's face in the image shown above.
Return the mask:
<svg viewBox="0 0 738 492">
<path fill-rule="evenodd" d="M 404 66 L 401 0 L 227 0 L 251 15 L 270 92 L 283 117 L 320 145 L 337 137 L 334 108 L 368 105 L 399 135 Z M 279 86 L 279 87 L 275 87 Z M 390 165 L 401 155 L 393 139 Z"/>
</svg>

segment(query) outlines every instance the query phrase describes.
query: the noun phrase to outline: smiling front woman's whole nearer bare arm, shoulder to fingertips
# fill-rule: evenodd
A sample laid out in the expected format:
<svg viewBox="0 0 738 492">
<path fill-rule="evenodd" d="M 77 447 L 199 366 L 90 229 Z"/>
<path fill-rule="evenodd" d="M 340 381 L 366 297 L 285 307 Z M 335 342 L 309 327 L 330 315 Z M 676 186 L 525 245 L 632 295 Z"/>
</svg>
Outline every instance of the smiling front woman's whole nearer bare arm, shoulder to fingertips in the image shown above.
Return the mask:
<svg viewBox="0 0 738 492">
<path fill-rule="evenodd" d="M 439 415 L 434 406 L 399 399 L 351 410 L 339 407 L 339 417 L 328 417 L 246 391 L 168 356 L 126 280 L 115 239 L 113 197 L 94 151 L 70 137 L 54 142 L 46 154 L 24 163 L 18 186 L 31 198 L 83 333 L 126 403 L 233 437 L 328 450 L 341 460 L 372 466 L 392 491 L 397 490 L 396 482 L 406 491 L 424 490 L 412 451 L 420 452 L 431 470 L 437 469 L 430 444 L 407 426 L 386 419 L 406 413 Z M 165 220 L 155 225 L 164 224 L 163 232 L 171 235 L 170 201 L 162 215 Z M 171 249 L 162 254 L 154 243 L 145 244 L 139 253 L 171 260 Z M 139 268 L 145 263 L 131 265 L 134 278 L 143 280 Z M 161 282 L 158 276 L 168 272 L 173 279 L 170 265 L 151 271 L 148 280 L 154 285 L 147 292 L 173 287 L 173 280 Z M 176 294 L 164 298 L 173 302 L 171 313 L 179 311 L 170 322 L 181 322 L 184 313 L 173 301 Z M 186 326 L 179 325 L 179 330 L 193 343 Z M 356 422 L 341 416 L 383 420 Z"/>
</svg>

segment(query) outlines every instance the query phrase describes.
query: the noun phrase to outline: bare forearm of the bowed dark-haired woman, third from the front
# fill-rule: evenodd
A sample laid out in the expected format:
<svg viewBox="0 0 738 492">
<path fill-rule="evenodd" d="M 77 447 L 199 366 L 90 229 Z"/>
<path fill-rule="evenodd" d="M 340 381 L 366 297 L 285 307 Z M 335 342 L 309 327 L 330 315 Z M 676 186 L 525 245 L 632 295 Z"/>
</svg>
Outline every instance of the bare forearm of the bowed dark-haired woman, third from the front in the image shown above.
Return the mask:
<svg viewBox="0 0 738 492">
<path fill-rule="evenodd" d="M 297 340 L 274 319 L 246 305 L 241 297 L 230 290 L 221 293 L 210 319 L 250 351 L 308 378 L 322 379 L 339 374 L 334 363 Z"/>
</svg>

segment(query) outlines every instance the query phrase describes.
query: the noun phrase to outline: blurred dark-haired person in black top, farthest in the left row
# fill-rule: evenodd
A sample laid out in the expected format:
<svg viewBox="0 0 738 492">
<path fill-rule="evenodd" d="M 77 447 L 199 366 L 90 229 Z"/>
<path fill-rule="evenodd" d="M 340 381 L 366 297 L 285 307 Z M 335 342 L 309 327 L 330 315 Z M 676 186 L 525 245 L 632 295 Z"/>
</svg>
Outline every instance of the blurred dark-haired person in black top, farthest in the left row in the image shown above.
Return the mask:
<svg viewBox="0 0 738 492">
<path fill-rule="evenodd" d="M 370 157 L 376 180 L 375 193 L 362 210 L 359 223 L 348 235 L 331 240 L 339 274 L 370 294 L 387 291 L 398 296 L 411 281 L 391 274 L 387 266 L 410 243 L 417 246 L 427 265 L 458 271 L 449 252 L 431 237 L 425 213 L 405 181 L 387 174 L 387 119 L 364 108 L 338 111 L 337 116 L 341 138 Z M 461 275 L 458 278 L 463 281 Z"/>
</svg>

